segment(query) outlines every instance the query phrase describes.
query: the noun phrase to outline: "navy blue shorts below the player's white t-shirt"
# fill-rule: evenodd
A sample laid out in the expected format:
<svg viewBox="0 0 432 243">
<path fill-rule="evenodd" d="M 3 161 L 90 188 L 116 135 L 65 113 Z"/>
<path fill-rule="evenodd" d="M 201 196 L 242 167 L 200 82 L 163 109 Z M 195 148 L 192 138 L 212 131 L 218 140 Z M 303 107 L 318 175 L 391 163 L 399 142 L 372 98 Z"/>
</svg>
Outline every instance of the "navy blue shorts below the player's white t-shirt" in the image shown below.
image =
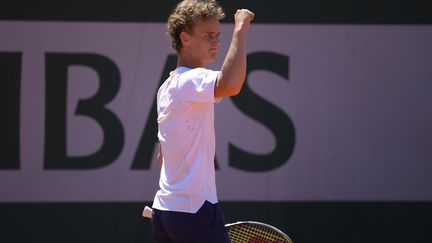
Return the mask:
<svg viewBox="0 0 432 243">
<path fill-rule="evenodd" d="M 159 243 L 229 243 L 219 204 L 205 201 L 197 213 L 153 209 L 152 230 Z"/>
</svg>

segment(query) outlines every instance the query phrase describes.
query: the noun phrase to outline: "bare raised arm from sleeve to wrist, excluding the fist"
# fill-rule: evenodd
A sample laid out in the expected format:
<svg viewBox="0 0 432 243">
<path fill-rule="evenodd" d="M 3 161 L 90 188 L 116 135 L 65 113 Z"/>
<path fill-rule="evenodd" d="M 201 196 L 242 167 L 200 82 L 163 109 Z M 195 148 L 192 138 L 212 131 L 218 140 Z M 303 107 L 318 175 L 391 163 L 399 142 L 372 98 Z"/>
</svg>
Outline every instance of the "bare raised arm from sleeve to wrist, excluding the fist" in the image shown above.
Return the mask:
<svg viewBox="0 0 432 243">
<path fill-rule="evenodd" d="M 246 31 L 236 26 L 231 45 L 219 74 L 218 85 L 223 87 L 222 96 L 240 92 L 246 78 Z"/>
</svg>

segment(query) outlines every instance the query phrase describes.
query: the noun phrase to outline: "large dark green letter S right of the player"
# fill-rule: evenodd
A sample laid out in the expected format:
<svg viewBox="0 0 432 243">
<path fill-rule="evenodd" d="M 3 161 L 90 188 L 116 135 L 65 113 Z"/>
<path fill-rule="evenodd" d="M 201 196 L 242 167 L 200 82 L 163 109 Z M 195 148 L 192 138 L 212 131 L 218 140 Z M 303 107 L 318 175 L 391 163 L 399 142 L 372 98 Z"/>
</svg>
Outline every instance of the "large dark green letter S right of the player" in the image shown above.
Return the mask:
<svg viewBox="0 0 432 243">
<path fill-rule="evenodd" d="M 288 56 L 272 52 L 256 52 L 247 57 L 247 76 L 255 70 L 268 70 L 288 80 Z M 229 144 L 229 165 L 245 171 L 270 171 L 288 161 L 294 151 L 295 129 L 289 116 L 256 95 L 248 86 L 247 78 L 239 95 L 231 98 L 244 114 L 270 129 L 276 147 L 269 154 L 246 152 Z M 253 104 L 253 105 L 251 105 Z"/>
</svg>

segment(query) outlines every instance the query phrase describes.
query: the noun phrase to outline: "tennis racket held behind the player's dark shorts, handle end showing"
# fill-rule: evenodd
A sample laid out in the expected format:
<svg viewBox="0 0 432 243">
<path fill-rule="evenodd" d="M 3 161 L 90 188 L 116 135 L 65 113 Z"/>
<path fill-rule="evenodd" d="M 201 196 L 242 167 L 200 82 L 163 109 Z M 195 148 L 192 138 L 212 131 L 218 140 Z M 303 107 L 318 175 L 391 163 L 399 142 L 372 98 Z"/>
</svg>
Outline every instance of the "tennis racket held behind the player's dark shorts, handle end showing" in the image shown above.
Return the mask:
<svg viewBox="0 0 432 243">
<path fill-rule="evenodd" d="M 144 207 L 142 216 L 151 218 L 152 209 Z M 293 243 L 281 230 L 274 226 L 255 221 L 241 221 L 226 224 L 231 243 Z"/>
</svg>

